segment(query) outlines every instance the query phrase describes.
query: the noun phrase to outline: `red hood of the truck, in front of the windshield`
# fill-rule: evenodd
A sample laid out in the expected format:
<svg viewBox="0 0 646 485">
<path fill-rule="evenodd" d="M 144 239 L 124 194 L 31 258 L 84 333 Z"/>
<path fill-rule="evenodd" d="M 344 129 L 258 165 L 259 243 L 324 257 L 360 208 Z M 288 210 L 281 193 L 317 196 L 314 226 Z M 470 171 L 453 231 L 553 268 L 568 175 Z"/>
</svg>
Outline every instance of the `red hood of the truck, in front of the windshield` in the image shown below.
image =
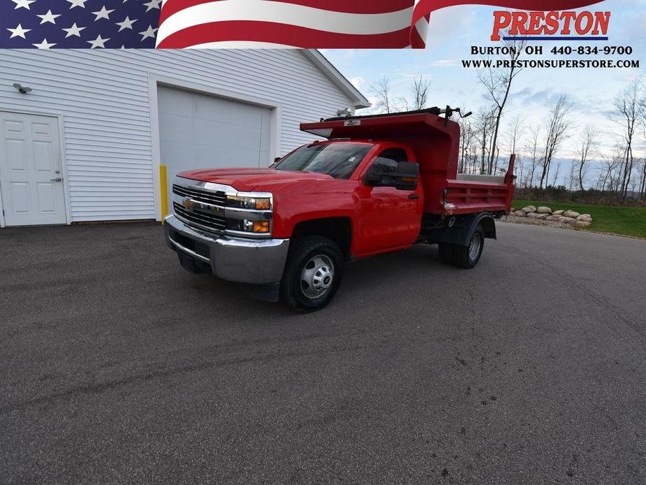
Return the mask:
<svg viewBox="0 0 646 485">
<path fill-rule="evenodd" d="M 271 191 L 272 187 L 314 180 L 335 180 L 323 173 L 278 171 L 273 168 L 214 168 L 199 171 L 186 171 L 179 177 L 191 178 L 202 182 L 230 185 L 240 191 L 253 191 L 259 188 Z"/>
</svg>

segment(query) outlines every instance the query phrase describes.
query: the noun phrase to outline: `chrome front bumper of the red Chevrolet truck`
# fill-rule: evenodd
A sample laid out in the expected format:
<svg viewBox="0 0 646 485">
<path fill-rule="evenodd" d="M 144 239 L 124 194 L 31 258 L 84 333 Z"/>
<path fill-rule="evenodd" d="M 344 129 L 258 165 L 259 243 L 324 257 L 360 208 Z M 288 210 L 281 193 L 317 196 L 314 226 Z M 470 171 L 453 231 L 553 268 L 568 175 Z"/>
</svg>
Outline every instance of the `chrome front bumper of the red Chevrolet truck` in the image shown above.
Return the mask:
<svg viewBox="0 0 646 485">
<path fill-rule="evenodd" d="M 166 243 L 171 249 L 211 267 L 222 280 L 266 284 L 281 280 L 288 239 L 252 240 L 209 235 L 184 224 L 174 215 L 164 219 Z"/>
</svg>

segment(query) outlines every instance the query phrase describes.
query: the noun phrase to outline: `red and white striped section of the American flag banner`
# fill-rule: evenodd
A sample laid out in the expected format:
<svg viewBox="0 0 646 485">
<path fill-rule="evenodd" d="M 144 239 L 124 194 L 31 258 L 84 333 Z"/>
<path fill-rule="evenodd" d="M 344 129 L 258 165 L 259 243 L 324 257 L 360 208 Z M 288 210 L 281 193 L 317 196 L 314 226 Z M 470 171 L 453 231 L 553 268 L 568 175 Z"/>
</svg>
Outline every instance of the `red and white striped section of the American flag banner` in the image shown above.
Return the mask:
<svg viewBox="0 0 646 485">
<path fill-rule="evenodd" d="M 424 48 L 430 15 L 457 5 L 565 10 L 600 0 L 165 0 L 159 48 Z"/>
</svg>

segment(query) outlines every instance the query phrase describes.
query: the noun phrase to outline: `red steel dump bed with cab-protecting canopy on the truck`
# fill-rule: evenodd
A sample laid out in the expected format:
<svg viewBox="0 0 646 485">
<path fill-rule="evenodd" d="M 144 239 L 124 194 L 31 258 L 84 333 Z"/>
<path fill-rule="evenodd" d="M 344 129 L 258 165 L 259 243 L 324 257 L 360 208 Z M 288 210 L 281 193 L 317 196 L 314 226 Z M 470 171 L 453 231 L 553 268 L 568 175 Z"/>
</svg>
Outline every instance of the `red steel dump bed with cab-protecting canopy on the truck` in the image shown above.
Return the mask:
<svg viewBox="0 0 646 485">
<path fill-rule="evenodd" d="M 509 212 L 514 190 L 513 162 L 503 176 L 458 175 L 460 125 L 430 108 L 390 115 L 338 117 L 302 123 L 300 129 L 323 138 L 393 141 L 411 147 L 424 188 L 424 212 L 462 215 Z"/>
</svg>

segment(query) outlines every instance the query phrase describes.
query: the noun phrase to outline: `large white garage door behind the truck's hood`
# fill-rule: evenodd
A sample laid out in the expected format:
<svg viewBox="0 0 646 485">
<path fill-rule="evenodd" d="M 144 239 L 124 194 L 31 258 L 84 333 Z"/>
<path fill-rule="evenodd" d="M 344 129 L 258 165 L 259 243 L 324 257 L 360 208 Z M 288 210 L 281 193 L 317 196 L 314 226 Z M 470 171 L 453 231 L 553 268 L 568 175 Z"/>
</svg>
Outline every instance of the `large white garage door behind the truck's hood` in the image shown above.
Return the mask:
<svg viewBox="0 0 646 485">
<path fill-rule="evenodd" d="M 267 167 L 272 110 L 160 86 L 161 163 L 172 178 L 193 168 Z"/>
</svg>

